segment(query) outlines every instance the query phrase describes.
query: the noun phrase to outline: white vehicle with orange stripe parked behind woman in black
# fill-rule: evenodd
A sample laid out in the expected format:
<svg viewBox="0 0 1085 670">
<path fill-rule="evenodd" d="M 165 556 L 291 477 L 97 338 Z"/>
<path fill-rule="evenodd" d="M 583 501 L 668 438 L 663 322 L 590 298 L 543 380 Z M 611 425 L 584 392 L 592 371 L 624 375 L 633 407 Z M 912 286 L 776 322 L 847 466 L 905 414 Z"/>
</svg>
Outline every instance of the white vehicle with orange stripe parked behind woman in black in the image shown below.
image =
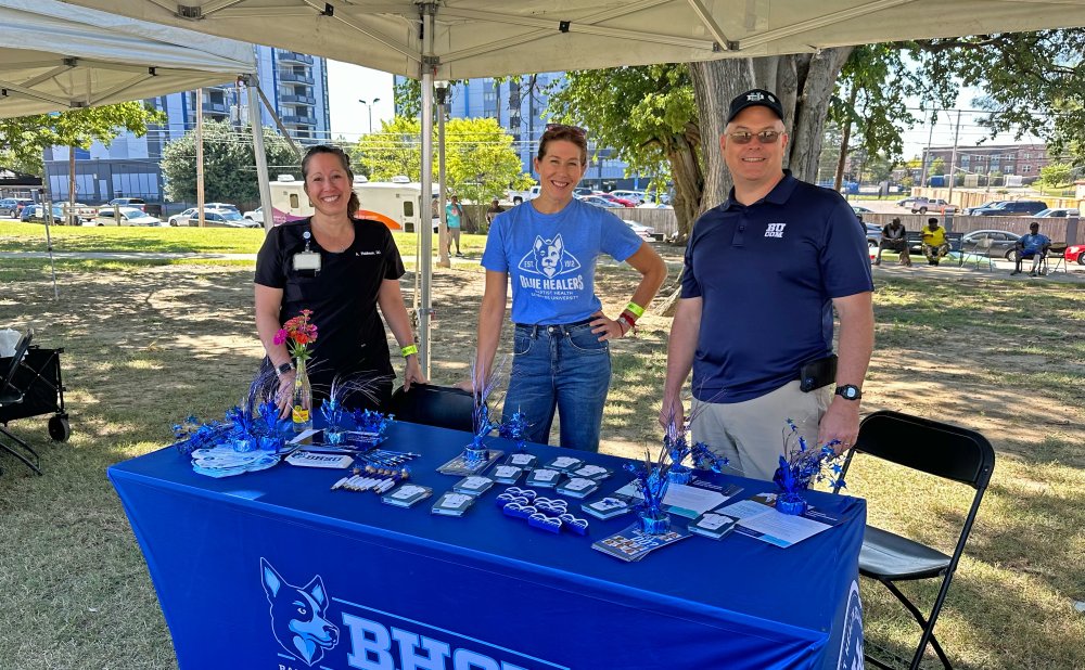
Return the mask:
<svg viewBox="0 0 1085 670">
<path fill-rule="evenodd" d="M 271 182 L 272 221 L 276 226 L 312 216 L 312 203 L 305 194 L 305 182 L 292 175 L 280 175 Z M 439 193 L 433 184 L 433 195 Z M 393 177 L 392 181 L 368 181 L 355 177 L 354 192 L 361 208 L 355 212 L 359 219 L 380 221 L 394 231 L 412 233 L 418 230 L 420 217 L 431 219 L 430 203 L 422 203 L 422 184 L 407 177 Z"/>
</svg>

